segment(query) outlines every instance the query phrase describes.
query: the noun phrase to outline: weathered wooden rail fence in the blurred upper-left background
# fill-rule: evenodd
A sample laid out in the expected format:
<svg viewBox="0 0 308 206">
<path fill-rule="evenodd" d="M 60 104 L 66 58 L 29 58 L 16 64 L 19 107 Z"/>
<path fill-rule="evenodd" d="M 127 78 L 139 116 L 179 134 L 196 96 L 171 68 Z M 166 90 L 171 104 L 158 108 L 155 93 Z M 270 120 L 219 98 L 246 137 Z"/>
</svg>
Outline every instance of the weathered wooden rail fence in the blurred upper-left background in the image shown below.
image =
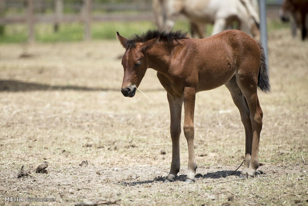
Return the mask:
<svg viewBox="0 0 308 206">
<path fill-rule="evenodd" d="M 64 3 L 69 3 L 77 12 L 64 12 Z M 84 39 L 89 40 L 92 22 L 152 20 L 151 3 L 152 0 L 0 0 L 0 25 L 28 24 L 28 40 L 32 42 L 35 40 L 36 23 L 51 23 L 57 30 L 60 23 L 79 22 L 84 24 Z M 10 7 L 25 12 L 6 14 Z M 44 12 L 47 9 L 52 12 Z M 102 12 L 94 13 L 93 10 Z"/>
</svg>

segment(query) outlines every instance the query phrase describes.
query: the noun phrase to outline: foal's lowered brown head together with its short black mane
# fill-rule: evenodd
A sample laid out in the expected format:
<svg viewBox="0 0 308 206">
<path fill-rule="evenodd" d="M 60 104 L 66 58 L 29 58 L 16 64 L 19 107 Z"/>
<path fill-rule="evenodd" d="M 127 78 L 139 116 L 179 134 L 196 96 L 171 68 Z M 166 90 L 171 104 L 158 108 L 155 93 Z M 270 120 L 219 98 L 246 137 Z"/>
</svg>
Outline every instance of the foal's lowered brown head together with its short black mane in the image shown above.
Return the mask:
<svg viewBox="0 0 308 206">
<path fill-rule="evenodd" d="M 149 68 L 148 50 L 157 41 L 162 41 L 166 46 L 171 46 L 174 41 L 187 38 L 186 33 L 181 33 L 181 31 L 165 32 L 158 30 L 149 30 L 142 35 L 135 35 L 131 39 L 126 39 L 117 32 L 117 37 L 126 49 L 122 58 L 124 78 L 121 89 L 125 97 L 134 97 L 136 88 L 139 87 Z"/>
</svg>

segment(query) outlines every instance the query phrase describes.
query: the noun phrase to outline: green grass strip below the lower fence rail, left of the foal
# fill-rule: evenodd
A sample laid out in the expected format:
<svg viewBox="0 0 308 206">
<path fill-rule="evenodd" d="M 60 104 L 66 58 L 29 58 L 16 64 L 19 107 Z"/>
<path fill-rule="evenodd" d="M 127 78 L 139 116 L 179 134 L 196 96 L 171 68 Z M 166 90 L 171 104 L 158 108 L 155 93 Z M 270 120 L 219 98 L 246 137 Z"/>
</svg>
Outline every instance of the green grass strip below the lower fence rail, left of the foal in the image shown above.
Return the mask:
<svg viewBox="0 0 308 206">
<path fill-rule="evenodd" d="M 105 22 L 91 25 L 93 39 L 115 39 L 116 31 L 129 37 L 134 33 L 143 33 L 148 29 L 156 28 L 151 21 L 139 22 Z M 27 41 L 28 28 L 23 24 L 5 25 L 0 43 L 22 43 Z M 54 31 L 52 24 L 35 25 L 35 38 L 38 42 L 67 42 L 83 39 L 83 24 L 60 24 L 58 32 Z"/>
</svg>

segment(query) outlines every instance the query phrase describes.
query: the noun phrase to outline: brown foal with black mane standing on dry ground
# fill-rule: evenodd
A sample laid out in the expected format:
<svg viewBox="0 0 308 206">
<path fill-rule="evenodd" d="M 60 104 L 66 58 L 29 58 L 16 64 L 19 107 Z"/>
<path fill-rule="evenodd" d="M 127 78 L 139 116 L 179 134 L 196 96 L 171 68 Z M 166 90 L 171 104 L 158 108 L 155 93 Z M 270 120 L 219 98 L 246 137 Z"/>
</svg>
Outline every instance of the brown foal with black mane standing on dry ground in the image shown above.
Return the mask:
<svg viewBox="0 0 308 206">
<path fill-rule="evenodd" d="M 134 97 L 148 68 L 167 91 L 170 107 L 172 161 L 165 182 L 173 182 L 180 169 L 179 137 L 184 103 L 184 135 L 188 144 L 186 181 L 195 181 L 194 107 L 196 92 L 225 85 L 231 93 L 245 128 L 245 163 L 241 175 L 253 177 L 259 166 L 258 150 L 262 110 L 257 87 L 270 91 L 265 56 L 260 43 L 239 30 L 227 30 L 205 39 L 190 39 L 180 31 L 150 30 L 126 39 L 117 32 L 126 49 L 122 58 L 121 92 Z"/>
</svg>

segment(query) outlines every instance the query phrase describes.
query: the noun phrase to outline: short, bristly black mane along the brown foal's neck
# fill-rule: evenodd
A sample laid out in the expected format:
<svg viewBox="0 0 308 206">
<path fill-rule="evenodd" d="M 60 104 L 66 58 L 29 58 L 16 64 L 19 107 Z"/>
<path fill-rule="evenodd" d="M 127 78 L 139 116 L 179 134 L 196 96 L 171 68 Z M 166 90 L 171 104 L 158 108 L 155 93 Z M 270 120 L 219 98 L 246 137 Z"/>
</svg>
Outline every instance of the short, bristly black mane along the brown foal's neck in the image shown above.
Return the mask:
<svg viewBox="0 0 308 206">
<path fill-rule="evenodd" d="M 165 42 L 167 45 L 172 45 L 173 41 L 175 40 L 178 42 L 179 39 L 188 39 L 187 32 L 182 32 L 181 30 L 177 31 L 159 31 L 158 29 L 149 30 L 142 35 L 135 34 L 127 42 L 127 48 L 134 48 L 136 47 L 137 42 L 144 43 L 151 39 L 159 37 L 159 41 Z"/>
</svg>

